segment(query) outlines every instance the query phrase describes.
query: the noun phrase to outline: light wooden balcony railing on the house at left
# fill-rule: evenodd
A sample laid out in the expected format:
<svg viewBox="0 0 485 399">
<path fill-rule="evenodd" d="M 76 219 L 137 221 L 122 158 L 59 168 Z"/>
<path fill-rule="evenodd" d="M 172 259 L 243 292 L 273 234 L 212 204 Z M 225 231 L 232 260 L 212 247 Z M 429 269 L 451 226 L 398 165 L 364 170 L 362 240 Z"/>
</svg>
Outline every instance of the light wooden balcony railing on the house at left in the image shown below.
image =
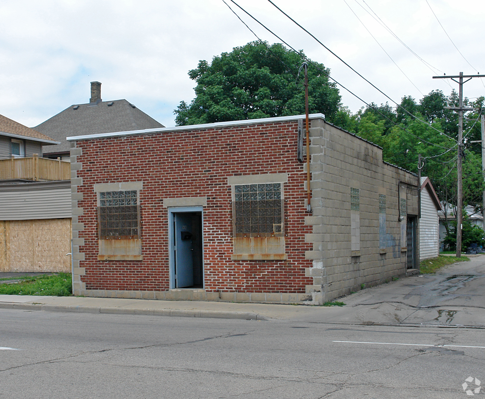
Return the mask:
<svg viewBox="0 0 485 399">
<path fill-rule="evenodd" d="M 25 179 L 33 181 L 70 180 L 69 162 L 33 157 L 0 160 L 0 180 Z"/>
</svg>

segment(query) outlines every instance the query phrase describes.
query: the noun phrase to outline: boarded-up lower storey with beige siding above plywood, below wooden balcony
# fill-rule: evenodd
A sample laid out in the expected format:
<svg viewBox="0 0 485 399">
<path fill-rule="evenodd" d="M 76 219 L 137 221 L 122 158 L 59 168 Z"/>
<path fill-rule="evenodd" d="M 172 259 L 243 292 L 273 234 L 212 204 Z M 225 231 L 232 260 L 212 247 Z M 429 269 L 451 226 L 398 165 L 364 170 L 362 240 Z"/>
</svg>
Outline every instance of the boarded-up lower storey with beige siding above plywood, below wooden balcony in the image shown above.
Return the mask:
<svg viewBox="0 0 485 399">
<path fill-rule="evenodd" d="M 0 271 L 71 271 L 69 180 L 0 182 Z"/>
</svg>

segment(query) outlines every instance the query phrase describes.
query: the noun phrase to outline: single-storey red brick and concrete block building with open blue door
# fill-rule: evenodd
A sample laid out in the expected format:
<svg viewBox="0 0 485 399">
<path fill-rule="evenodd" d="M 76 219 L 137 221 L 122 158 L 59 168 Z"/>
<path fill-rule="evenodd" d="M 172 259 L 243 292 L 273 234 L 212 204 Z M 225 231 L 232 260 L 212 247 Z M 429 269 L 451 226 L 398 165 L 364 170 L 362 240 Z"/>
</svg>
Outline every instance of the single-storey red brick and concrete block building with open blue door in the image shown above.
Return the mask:
<svg viewBox="0 0 485 399">
<path fill-rule="evenodd" d="M 417 272 L 418 177 L 310 115 L 308 210 L 303 118 L 68 137 L 74 294 L 323 303 Z"/>
</svg>

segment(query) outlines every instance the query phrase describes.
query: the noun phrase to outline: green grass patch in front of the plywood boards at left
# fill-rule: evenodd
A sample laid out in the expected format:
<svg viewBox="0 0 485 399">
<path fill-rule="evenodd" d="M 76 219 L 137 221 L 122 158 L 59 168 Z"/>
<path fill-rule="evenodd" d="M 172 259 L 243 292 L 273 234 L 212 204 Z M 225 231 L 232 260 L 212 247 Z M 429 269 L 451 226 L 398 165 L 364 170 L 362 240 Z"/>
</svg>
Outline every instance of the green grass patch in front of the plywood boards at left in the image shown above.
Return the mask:
<svg viewBox="0 0 485 399">
<path fill-rule="evenodd" d="M 66 297 L 72 295 L 72 282 L 69 273 L 54 275 L 22 276 L 16 277 L 24 281 L 13 284 L 0 284 L 2 295 L 49 295 Z M 10 278 L 11 280 L 12 278 Z M 3 279 L 5 280 L 5 279 Z"/>
</svg>

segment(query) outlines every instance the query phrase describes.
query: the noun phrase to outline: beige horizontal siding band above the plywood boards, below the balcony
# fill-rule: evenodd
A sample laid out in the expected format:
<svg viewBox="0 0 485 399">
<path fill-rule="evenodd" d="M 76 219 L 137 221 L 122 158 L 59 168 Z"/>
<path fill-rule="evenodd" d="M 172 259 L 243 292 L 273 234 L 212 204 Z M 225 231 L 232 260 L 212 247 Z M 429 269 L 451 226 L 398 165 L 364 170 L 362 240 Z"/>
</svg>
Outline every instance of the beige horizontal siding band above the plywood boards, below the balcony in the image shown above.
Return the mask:
<svg viewBox="0 0 485 399">
<path fill-rule="evenodd" d="M 0 220 L 71 217 L 70 181 L 0 186 Z"/>
</svg>

